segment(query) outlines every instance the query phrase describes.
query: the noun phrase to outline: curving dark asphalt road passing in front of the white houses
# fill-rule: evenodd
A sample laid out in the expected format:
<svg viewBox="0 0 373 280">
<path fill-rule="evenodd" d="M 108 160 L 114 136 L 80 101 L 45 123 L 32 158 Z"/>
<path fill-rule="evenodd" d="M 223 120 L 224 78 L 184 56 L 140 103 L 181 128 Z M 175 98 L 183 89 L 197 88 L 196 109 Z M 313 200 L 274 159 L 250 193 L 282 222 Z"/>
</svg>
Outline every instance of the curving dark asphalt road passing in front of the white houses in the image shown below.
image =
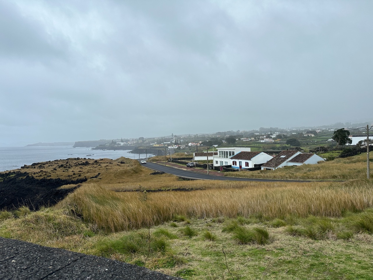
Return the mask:
<svg viewBox="0 0 373 280">
<path fill-rule="evenodd" d="M 256 182 L 311 182 L 303 180 L 276 180 L 276 179 L 254 179 L 254 178 L 238 178 L 238 177 L 227 177 L 227 176 L 216 176 L 216 175 L 207 175 L 190 171 L 173 168 L 169 166 L 164 166 L 162 164 L 155 164 L 153 162 L 147 162 L 142 166 L 156 170 L 162 171 L 168 174 L 173 174 L 179 177 L 185 177 L 190 179 L 201 179 L 201 180 L 220 180 L 220 181 L 256 181 Z M 312 181 L 314 182 L 314 180 Z"/>
</svg>

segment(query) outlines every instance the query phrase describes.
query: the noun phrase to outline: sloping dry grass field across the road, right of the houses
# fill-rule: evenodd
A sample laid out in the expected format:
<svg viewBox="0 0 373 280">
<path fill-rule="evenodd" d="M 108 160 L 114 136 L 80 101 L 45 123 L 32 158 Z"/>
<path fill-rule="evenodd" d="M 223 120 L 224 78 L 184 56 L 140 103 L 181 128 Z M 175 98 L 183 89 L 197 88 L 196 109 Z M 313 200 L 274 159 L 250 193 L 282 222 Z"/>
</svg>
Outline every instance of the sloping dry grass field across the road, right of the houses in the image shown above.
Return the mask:
<svg viewBox="0 0 373 280">
<path fill-rule="evenodd" d="M 371 165 L 373 152 L 369 154 Z M 349 158 L 336 158 L 333 161 L 318 164 L 287 166 L 275 171 L 258 170 L 227 172 L 227 176 L 266 179 L 300 179 L 300 180 L 351 180 L 366 178 L 367 156 L 361 154 Z"/>
</svg>

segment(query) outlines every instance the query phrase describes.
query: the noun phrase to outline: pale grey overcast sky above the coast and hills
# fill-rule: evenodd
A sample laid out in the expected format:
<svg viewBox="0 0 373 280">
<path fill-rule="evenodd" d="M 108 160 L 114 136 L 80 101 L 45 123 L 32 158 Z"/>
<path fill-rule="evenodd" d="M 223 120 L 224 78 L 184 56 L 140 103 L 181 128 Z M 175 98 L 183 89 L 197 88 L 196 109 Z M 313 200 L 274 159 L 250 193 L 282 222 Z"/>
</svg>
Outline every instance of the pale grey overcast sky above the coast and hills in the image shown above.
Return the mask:
<svg viewBox="0 0 373 280">
<path fill-rule="evenodd" d="M 372 14 L 371 0 L 0 0 L 0 146 L 372 119 Z"/>
</svg>

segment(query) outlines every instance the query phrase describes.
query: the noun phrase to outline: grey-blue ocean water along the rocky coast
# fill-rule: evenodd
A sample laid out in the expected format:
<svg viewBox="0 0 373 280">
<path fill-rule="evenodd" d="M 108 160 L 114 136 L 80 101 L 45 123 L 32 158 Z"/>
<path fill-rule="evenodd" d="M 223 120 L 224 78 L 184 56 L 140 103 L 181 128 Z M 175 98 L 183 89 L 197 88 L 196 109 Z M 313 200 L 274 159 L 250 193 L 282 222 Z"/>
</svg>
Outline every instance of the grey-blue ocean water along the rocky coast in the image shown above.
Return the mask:
<svg viewBox="0 0 373 280">
<path fill-rule="evenodd" d="M 91 150 L 89 147 L 46 146 L 46 147 L 0 147 L 0 171 L 21 168 L 34 162 L 54 161 L 67 158 L 125 158 L 138 159 L 139 154 L 129 153 L 130 150 Z M 148 157 L 153 156 L 148 154 Z M 145 158 L 146 154 L 140 154 Z"/>
</svg>

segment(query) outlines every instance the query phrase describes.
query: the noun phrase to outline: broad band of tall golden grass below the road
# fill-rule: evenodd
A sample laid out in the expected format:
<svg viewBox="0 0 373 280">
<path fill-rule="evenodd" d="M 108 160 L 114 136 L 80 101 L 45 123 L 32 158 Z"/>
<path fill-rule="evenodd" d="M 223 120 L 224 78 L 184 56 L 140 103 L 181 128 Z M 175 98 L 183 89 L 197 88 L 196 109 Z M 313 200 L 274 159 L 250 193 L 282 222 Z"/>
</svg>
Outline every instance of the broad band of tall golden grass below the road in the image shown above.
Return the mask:
<svg viewBox="0 0 373 280">
<path fill-rule="evenodd" d="M 100 181 L 87 182 L 70 194 L 70 205 L 84 221 L 108 232 L 141 228 L 169 221 L 176 214 L 188 217 L 236 217 L 264 215 L 340 216 L 344 211 L 373 207 L 371 183 L 352 180 L 345 183 L 288 183 L 241 181 L 178 181 L 169 175 L 149 175 L 137 161 L 126 168 L 103 172 Z M 189 192 L 148 192 L 140 201 L 135 190 L 196 189 Z"/>
</svg>

